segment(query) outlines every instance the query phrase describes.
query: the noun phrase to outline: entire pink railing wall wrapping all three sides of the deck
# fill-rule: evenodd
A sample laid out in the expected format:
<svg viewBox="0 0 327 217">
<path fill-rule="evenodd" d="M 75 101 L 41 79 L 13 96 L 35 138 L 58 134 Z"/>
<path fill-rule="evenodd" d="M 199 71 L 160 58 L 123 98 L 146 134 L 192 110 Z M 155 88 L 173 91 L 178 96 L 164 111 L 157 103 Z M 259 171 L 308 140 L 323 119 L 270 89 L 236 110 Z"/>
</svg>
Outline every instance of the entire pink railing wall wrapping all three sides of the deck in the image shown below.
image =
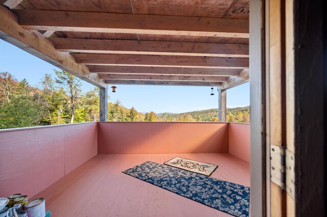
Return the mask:
<svg viewBox="0 0 327 217">
<path fill-rule="evenodd" d="M 0 130 L 0 195 L 33 197 L 96 154 L 215 152 L 249 162 L 249 124 L 91 122 Z"/>
</svg>

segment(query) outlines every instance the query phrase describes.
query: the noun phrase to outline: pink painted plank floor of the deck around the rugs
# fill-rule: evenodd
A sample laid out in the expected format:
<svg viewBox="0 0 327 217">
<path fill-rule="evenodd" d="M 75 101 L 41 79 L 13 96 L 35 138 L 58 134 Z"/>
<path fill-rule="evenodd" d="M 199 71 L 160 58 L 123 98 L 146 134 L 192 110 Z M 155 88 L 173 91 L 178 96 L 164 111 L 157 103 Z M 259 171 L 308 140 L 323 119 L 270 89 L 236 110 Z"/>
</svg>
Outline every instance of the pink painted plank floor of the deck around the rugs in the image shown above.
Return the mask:
<svg viewBox="0 0 327 217">
<path fill-rule="evenodd" d="M 99 154 L 34 198 L 44 197 L 52 216 L 230 216 L 122 173 L 175 156 L 216 164 L 211 177 L 250 185 L 249 163 L 228 153 Z"/>
</svg>

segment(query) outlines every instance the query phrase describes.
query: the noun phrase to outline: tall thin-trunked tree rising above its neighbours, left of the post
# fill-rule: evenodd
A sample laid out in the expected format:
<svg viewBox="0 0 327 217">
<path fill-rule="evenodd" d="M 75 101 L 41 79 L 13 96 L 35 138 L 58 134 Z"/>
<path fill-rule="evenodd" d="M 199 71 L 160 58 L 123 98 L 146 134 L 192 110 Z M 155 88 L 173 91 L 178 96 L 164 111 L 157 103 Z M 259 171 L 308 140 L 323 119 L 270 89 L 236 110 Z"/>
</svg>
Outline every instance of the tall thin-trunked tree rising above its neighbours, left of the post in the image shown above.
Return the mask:
<svg viewBox="0 0 327 217">
<path fill-rule="evenodd" d="M 71 113 L 70 123 L 73 123 L 75 110 L 79 105 L 79 95 L 81 93 L 80 79 L 66 71 L 55 70 L 55 73 L 58 76 L 58 78 L 56 78 L 56 83 L 64 88 L 69 98 L 67 106 Z"/>
</svg>

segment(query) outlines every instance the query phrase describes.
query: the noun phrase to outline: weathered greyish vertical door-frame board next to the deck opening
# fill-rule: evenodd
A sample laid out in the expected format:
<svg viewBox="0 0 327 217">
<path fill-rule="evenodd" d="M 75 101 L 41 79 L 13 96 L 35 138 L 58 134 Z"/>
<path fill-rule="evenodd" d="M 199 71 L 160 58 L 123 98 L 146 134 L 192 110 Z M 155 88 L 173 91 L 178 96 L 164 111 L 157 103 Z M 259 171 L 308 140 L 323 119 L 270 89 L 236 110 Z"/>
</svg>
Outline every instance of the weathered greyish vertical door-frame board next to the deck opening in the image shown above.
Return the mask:
<svg viewBox="0 0 327 217">
<path fill-rule="evenodd" d="M 268 216 L 266 213 L 266 165 L 265 165 L 265 98 L 263 22 L 265 2 L 250 1 L 250 164 L 251 191 L 250 213 L 252 216 Z M 254 187 L 253 187 L 254 186 Z"/>
</svg>

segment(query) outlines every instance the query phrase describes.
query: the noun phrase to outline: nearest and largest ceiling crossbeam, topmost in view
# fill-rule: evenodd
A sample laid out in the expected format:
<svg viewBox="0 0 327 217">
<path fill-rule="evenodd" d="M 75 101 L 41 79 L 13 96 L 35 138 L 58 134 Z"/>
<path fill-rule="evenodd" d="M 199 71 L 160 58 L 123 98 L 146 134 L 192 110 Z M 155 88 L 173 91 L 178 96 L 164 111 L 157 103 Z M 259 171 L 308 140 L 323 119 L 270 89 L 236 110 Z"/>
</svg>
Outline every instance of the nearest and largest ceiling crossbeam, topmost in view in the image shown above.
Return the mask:
<svg viewBox="0 0 327 217">
<path fill-rule="evenodd" d="M 249 20 L 211 17 L 15 10 L 29 30 L 248 38 Z"/>
</svg>

